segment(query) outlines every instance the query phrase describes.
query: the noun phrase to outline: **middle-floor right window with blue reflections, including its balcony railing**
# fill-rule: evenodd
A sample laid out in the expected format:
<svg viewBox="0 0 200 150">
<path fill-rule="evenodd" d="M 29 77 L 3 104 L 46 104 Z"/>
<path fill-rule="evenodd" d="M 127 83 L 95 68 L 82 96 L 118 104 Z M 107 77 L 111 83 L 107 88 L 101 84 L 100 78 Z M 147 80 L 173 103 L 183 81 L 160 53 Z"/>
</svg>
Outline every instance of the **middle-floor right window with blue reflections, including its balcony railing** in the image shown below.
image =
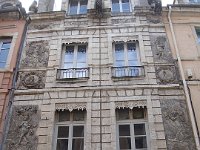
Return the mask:
<svg viewBox="0 0 200 150">
<path fill-rule="evenodd" d="M 113 44 L 113 77 L 136 77 L 143 75 L 143 68 L 140 66 L 137 45 L 136 42 L 117 42 Z"/>
</svg>

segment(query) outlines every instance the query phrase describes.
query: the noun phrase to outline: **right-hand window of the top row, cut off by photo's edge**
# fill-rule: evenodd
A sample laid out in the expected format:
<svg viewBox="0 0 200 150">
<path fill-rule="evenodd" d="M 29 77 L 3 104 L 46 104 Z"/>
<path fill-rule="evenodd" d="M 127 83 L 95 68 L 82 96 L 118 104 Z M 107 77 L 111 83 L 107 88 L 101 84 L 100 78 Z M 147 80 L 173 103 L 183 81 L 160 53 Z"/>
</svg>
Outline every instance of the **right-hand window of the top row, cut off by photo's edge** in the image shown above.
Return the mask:
<svg viewBox="0 0 200 150">
<path fill-rule="evenodd" d="M 112 12 L 130 12 L 129 0 L 112 0 Z"/>
</svg>

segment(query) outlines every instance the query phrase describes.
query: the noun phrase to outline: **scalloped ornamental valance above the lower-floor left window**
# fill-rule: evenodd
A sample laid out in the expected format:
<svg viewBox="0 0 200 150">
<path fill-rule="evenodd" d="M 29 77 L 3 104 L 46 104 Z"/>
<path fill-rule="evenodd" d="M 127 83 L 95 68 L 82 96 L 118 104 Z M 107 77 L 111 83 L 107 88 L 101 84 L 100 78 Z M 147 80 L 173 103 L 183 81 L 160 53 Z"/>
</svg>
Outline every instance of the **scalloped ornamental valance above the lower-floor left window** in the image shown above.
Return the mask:
<svg viewBox="0 0 200 150">
<path fill-rule="evenodd" d="M 87 108 L 87 103 L 63 103 L 63 104 L 56 104 L 56 110 L 63 111 L 69 110 L 70 112 L 74 109 L 84 110 Z"/>
</svg>

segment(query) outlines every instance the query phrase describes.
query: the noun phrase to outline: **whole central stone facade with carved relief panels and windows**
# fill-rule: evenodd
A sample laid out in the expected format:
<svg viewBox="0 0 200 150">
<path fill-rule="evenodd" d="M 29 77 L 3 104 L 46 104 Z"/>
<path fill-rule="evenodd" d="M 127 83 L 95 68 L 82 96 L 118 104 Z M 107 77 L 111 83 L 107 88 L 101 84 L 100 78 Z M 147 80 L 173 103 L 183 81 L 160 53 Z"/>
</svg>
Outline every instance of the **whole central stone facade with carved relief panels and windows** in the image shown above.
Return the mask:
<svg viewBox="0 0 200 150">
<path fill-rule="evenodd" d="M 194 150 L 161 3 L 73 2 L 30 15 L 5 149 Z"/>
</svg>

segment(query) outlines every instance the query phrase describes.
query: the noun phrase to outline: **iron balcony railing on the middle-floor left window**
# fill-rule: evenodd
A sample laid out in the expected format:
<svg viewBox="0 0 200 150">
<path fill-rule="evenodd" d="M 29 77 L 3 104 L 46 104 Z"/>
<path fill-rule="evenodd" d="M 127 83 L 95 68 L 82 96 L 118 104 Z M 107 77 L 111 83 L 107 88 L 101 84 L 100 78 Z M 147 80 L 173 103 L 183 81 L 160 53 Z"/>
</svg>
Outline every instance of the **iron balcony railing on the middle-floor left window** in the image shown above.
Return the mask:
<svg viewBox="0 0 200 150">
<path fill-rule="evenodd" d="M 89 68 L 69 68 L 69 69 L 58 69 L 57 79 L 78 79 L 78 78 L 88 78 Z"/>
</svg>

